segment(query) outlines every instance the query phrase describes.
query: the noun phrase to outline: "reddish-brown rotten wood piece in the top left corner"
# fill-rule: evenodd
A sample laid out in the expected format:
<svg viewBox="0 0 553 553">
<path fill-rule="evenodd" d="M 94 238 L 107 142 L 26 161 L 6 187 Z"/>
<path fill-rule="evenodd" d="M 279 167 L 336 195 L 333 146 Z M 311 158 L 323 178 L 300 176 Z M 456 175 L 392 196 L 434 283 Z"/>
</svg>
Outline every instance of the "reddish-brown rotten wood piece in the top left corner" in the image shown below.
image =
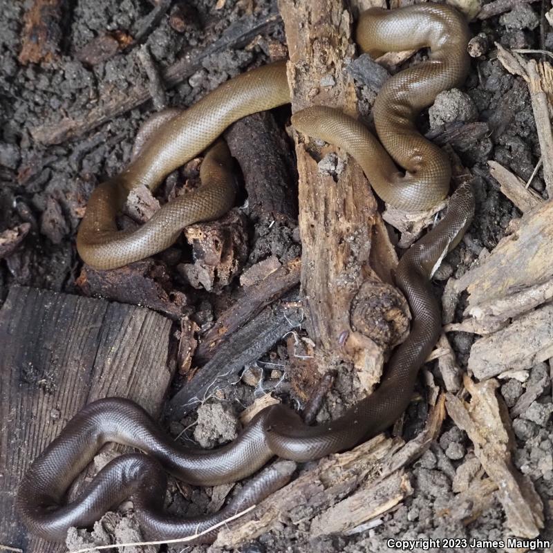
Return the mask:
<svg viewBox="0 0 553 553">
<path fill-rule="evenodd" d="M 59 53 L 65 0 L 35 0 L 24 16 L 19 63 L 48 62 Z"/>
</svg>

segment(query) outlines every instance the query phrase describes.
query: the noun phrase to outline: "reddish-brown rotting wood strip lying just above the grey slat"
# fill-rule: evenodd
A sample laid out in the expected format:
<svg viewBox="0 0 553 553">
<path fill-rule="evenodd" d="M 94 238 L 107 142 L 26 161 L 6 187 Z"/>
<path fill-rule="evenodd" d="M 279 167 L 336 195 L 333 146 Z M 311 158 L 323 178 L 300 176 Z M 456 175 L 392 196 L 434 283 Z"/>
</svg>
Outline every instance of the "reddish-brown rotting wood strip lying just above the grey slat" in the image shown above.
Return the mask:
<svg viewBox="0 0 553 553">
<path fill-rule="evenodd" d="M 274 272 L 265 273 L 259 283 L 245 286 L 238 292 L 233 305 L 217 319 L 201 338 L 194 361 L 202 365 L 209 361 L 223 341 L 231 339 L 234 332 L 247 324 L 275 299 L 299 284 L 301 261 L 293 259 Z"/>
</svg>

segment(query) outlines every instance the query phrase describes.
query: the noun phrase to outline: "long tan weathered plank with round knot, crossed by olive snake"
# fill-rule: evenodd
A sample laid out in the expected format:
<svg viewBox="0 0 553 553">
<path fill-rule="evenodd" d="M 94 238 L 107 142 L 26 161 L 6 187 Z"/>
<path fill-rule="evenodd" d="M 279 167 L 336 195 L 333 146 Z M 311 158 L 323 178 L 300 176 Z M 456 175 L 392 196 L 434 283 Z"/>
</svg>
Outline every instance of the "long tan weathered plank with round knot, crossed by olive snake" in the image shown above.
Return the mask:
<svg viewBox="0 0 553 553">
<path fill-rule="evenodd" d="M 355 115 L 355 87 L 345 71 L 355 48 L 351 16 L 344 4 L 340 0 L 281 0 L 279 8 L 290 51 L 292 112 L 324 104 Z M 401 339 L 407 325 L 402 297 L 380 282 L 368 264 L 373 239 L 387 241 L 388 236 L 372 232 L 379 214 L 359 165 L 351 159 L 344 163 L 340 159 L 337 164 L 334 147 L 319 148 L 298 137 L 296 143 L 301 287 L 308 330 L 324 350 L 327 366 L 332 358 L 353 362 L 364 373 L 362 379 L 374 384 L 382 371 L 384 350 Z M 374 293 L 369 290 L 372 285 L 377 288 Z M 378 326 L 388 327 L 386 337 L 371 337 L 370 321 L 360 328 L 369 298 L 371 312 L 375 304 L 382 306 L 382 310 L 377 307 L 379 315 L 384 315 Z M 377 344 L 375 338 L 382 341 Z"/>
</svg>

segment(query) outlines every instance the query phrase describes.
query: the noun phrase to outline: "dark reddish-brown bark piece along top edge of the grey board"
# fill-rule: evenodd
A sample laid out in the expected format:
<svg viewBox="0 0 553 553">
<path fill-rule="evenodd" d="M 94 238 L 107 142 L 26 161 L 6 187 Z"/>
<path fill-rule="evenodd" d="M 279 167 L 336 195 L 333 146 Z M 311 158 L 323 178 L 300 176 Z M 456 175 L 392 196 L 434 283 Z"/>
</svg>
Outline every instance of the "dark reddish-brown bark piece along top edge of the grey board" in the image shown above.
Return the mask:
<svg viewBox="0 0 553 553">
<path fill-rule="evenodd" d="M 188 304 L 185 294 L 174 291 L 165 267 L 153 259 L 136 261 L 109 271 L 84 265 L 75 284 L 85 296 L 100 296 L 145 306 L 171 319 L 182 317 Z"/>
</svg>

